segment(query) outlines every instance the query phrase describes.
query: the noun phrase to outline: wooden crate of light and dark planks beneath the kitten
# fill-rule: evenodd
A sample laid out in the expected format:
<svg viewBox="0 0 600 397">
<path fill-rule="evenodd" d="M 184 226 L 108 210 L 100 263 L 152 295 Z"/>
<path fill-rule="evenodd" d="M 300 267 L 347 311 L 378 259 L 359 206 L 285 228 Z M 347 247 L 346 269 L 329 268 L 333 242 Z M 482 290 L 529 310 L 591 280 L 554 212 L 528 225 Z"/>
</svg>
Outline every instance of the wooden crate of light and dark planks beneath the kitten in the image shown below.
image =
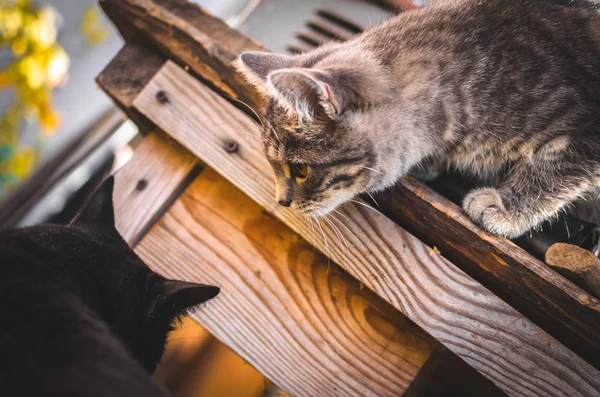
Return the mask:
<svg viewBox="0 0 600 397">
<path fill-rule="evenodd" d="M 148 133 L 117 175 L 119 230 L 163 274 L 220 285 L 196 319 L 267 377 L 418 395 L 447 348 L 509 395 L 600 393 L 596 298 L 416 181 L 376 197 L 383 214 L 278 207 L 232 65 L 260 44 L 183 0 L 101 5 L 128 44 L 98 82 Z"/>
</svg>

